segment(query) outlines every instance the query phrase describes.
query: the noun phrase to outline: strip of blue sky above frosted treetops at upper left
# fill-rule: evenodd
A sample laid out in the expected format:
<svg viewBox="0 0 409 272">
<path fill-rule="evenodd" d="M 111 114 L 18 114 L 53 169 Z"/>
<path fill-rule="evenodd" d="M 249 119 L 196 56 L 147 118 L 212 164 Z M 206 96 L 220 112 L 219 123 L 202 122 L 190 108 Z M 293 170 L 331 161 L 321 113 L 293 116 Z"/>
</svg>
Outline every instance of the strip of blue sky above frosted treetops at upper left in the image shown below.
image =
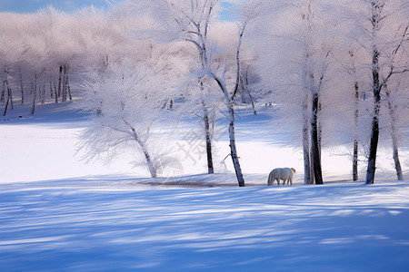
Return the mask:
<svg viewBox="0 0 409 272">
<path fill-rule="evenodd" d="M 40 8 L 53 5 L 65 12 L 75 11 L 85 5 L 105 7 L 105 0 L 0 0 L 0 12 L 35 13 Z"/>
</svg>

